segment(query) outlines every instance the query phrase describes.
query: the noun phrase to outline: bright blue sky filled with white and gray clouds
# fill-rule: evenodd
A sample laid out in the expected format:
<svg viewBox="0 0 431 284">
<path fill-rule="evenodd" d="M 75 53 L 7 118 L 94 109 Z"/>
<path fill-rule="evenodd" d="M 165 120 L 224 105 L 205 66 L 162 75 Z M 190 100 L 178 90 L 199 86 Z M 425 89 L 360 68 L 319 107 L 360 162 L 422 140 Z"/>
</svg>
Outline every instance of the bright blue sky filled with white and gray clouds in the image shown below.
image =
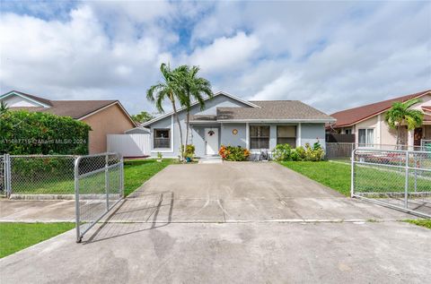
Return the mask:
<svg viewBox="0 0 431 284">
<path fill-rule="evenodd" d="M 331 113 L 431 89 L 430 2 L 4 1 L 0 90 L 154 111 L 159 66 Z"/>
</svg>

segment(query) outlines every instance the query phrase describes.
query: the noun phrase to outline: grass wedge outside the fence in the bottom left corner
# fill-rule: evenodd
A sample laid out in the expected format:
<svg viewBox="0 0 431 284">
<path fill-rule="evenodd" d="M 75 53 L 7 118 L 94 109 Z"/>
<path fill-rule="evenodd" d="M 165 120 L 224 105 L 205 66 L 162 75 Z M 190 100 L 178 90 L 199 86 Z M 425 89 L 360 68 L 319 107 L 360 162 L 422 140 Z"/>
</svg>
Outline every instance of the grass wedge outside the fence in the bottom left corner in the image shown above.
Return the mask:
<svg viewBox="0 0 431 284">
<path fill-rule="evenodd" d="M 0 223 L 0 258 L 75 228 L 75 223 Z"/>
</svg>

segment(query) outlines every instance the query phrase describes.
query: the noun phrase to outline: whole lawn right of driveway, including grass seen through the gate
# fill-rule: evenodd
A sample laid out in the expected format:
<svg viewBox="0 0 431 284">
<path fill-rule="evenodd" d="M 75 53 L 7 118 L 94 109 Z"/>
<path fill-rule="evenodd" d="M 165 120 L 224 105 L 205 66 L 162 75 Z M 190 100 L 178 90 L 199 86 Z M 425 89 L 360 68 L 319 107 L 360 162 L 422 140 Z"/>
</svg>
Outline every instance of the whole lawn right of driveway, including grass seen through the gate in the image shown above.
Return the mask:
<svg viewBox="0 0 431 284">
<path fill-rule="evenodd" d="M 303 174 L 303 176 L 308 176 L 322 185 L 335 189 L 341 194 L 347 196 L 350 194 L 350 165 L 330 161 L 287 161 L 280 162 L 280 164 Z M 355 175 L 357 192 L 404 193 L 404 170 L 356 166 Z M 431 192 L 429 178 L 429 176 L 417 176 L 416 188 L 418 192 Z M 409 176 L 409 192 L 415 192 L 415 178 L 412 174 Z"/>
</svg>

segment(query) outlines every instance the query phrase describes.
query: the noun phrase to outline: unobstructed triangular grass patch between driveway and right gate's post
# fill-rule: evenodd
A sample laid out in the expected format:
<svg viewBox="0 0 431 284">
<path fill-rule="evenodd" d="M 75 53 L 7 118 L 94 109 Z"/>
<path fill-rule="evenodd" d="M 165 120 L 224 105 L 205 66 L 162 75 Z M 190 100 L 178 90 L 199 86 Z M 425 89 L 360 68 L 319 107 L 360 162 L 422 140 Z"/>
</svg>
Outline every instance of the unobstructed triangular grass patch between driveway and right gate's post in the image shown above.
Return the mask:
<svg viewBox="0 0 431 284">
<path fill-rule="evenodd" d="M 280 164 L 326 185 L 340 194 L 350 195 L 350 167 L 348 165 L 328 161 L 286 161 L 280 162 Z"/>
</svg>

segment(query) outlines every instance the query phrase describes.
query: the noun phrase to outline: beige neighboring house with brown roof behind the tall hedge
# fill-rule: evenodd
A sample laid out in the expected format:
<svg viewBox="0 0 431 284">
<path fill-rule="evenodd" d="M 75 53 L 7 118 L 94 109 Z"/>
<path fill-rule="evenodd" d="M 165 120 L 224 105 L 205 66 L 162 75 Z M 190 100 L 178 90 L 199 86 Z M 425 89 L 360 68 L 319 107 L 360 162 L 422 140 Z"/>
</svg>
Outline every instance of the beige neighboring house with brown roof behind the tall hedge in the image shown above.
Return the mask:
<svg viewBox="0 0 431 284">
<path fill-rule="evenodd" d="M 107 150 L 108 134 L 122 134 L 136 127 L 119 100 L 49 100 L 12 90 L 0 96 L 8 108 L 48 112 L 57 116 L 71 116 L 92 127 L 89 133 L 89 152 Z"/>
</svg>

